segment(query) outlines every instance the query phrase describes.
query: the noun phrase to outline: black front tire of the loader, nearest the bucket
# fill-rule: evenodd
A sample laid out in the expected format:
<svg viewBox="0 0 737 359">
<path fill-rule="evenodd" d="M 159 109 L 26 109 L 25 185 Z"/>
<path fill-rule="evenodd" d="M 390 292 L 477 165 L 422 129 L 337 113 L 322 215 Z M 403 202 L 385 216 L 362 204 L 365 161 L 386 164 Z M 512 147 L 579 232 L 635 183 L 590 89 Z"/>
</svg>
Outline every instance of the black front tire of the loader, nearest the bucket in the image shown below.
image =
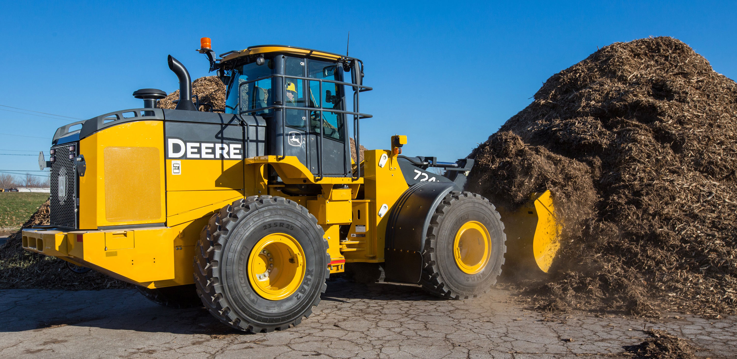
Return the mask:
<svg viewBox="0 0 737 359">
<path fill-rule="evenodd" d="M 483 196 L 461 191 L 448 193 L 435 210 L 427 228 L 422 252 L 422 288 L 449 299 L 475 298 L 489 291 L 501 274 L 506 253 L 506 235 L 500 218 L 494 205 Z M 460 252 L 456 255 L 455 251 L 461 248 L 458 246 L 458 238 L 462 238 L 463 233 L 461 230 L 469 227 L 479 229 L 472 245 L 475 245 L 478 237 L 480 247 L 469 251 L 468 263 L 464 263 L 463 258 L 459 257 Z M 486 255 L 474 255 L 480 252 Z"/>
</svg>

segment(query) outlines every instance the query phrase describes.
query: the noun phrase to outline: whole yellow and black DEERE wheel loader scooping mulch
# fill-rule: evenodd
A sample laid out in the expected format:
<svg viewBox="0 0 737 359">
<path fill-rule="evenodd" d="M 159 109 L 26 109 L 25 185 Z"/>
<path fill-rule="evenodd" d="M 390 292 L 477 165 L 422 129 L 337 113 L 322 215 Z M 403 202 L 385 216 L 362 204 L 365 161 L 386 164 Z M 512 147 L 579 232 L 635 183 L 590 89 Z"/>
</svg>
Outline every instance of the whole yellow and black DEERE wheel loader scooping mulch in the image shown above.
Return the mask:
<svg viewBox="0 0 737 359">
<path fill-rule="evenodd" d="M 299 324 L 330 274 L 346 270 L 448 299 L 488 291 L 507 248 L 548 270 L 559 227 L 549 193 L 500 220 L 463 191 L 473 160 L 405 157 L 403 135 L 352 159 L 349 138 L 360 149 L 360 120 L 371 118 L 359 107 L 371 90 L 361 60 L 277 45 L 217 58 L 210 48 L 203 38 L 226 108 L 193 99 L 170 56 L 175 110 L 156 108 L 164 91 L 142 89 L 142 108 L 57 129 L 49 160 L 39 156 L 51 168 L 51 225 L 24 230 L 25 249 L 253 332 Z"/>
</svg>

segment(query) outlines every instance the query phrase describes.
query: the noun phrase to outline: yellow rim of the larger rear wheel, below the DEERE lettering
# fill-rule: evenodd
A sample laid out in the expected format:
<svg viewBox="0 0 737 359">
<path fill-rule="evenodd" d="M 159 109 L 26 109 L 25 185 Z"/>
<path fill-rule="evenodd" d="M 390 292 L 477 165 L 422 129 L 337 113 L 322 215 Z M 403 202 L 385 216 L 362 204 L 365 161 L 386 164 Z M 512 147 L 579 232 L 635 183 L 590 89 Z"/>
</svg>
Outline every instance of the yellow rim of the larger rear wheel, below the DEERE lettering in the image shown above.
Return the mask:
<svg viewBox="0 0 737 359">
<path fill-rule="evenodd" d="M 248 256 L 248 280 L 264 299 L 279 300 L 292 295 L 303 279 L 304 250 L 291 235 L 267 235 Z"/>
</svg>

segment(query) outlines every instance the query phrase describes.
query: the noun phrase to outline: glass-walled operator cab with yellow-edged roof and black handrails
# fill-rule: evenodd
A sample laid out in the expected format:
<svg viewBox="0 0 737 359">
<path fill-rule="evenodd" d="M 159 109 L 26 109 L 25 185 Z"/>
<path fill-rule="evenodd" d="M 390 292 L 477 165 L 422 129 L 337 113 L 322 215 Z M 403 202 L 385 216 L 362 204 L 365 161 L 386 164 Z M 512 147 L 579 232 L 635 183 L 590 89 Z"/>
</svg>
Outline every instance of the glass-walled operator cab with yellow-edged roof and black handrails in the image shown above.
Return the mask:
<svg viewBox="0 0 737 359">
<path fill-rule="evenodd" d="M 316 177 L 360 177 L 351 163 L 349 126 L 358 140 L 363 63 L 293 46 L 252 46 L 220 55 L 226 113 L 257 115 L 268 124 L 268 154 L 295 156 Z M 346 87 L 346 85 L 348 85 Z M 346 109 L 346 89 L 352 109 Z M 358 141 L 357 146 L 358 146 Z"/>
</svg>

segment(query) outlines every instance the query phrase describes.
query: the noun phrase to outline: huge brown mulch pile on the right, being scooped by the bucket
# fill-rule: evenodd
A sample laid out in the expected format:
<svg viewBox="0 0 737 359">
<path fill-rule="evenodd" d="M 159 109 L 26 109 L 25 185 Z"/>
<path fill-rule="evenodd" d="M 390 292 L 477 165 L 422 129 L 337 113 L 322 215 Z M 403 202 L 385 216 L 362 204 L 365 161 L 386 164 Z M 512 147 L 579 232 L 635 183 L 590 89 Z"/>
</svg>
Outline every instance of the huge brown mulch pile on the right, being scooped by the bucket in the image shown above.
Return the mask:
<svg viewBox="0 0 737 359">
<path fill-rule="evenodd" d="M 537 308 L 737 313 L 737 84 L 674 38 L 613 43 L 553 75 L 469 156 L 467 189 L 513 208 L 551 190 Z"/>
</svg>

